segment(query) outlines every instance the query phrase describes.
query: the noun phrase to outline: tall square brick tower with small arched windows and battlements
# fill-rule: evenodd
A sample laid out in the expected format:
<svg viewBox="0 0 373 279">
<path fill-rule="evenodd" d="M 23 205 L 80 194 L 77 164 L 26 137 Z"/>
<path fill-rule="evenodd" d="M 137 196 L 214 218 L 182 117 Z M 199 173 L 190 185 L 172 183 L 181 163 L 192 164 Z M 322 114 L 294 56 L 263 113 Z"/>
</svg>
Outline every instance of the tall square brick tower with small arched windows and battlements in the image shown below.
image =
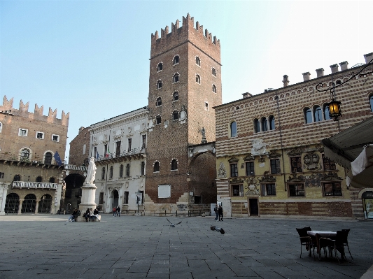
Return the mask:
<svg viewBox="0 0 373 279">
<path fill-rule="evenodd" d="M 176 20 L 171 33 L 167 26 L 151 35 L 146 210 L 180 213 L 216 202 L 216 158 L 192 157 L 188 148 L 215 141 L 220 77 L 220 41 L 189 14 L 182 27 Z"/>
</svg>

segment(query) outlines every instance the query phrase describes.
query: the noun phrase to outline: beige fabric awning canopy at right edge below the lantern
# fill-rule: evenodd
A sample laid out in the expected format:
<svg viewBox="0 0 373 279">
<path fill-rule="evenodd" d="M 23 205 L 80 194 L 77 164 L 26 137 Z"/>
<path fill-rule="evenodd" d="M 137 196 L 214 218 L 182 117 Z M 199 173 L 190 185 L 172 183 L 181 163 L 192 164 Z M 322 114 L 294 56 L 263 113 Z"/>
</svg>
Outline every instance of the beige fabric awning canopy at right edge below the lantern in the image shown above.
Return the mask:
<svg viewBox="0 0 373 279">
<path fill-rule="evenodd" d="M 360 188 L 372 187 L 373 117 L 330 138 L 325 138 L 321 143 L 324 145 L 325 157 L 328 157 L 344 168 L 351 169 L 352 162 L 354 162 L 354 166 L 358 164 L 364 166 L 360 168 L 359 173 L 354 171 L 355 176 L 351 180 L 351 186 Z M 347 182 L 349 183 L 349 181 Z"/>
</svg>

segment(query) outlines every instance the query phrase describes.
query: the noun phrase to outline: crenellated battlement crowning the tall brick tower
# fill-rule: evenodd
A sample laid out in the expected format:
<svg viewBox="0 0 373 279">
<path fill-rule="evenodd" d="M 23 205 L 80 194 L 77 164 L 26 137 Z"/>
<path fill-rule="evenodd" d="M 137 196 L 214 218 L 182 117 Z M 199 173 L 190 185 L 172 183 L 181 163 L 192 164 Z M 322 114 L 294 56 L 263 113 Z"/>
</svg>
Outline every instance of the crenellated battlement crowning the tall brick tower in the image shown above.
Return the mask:
<svg viewBox="0 0 373 279">
<path fill-rule="evenodd" d="M 199 22 L 195 24 L 194 17 L 190 17 L 188 13 L 186 17 L 183 17 L 182 27 L 180 27 L 180 21 L 176 20 L 175 23 L 171 23 L 171 33 L 168 25 L 161 29 L 160 33 L 155 31 L 155 34 L 151 34 L 150 57 L 156 57 L 164 49 L 171 49 L 189 41 L 201 48 L 202 51 L 212 54 L 213 59 L 220 62 L 220 40 L 203 28 Z"/>
</svg>

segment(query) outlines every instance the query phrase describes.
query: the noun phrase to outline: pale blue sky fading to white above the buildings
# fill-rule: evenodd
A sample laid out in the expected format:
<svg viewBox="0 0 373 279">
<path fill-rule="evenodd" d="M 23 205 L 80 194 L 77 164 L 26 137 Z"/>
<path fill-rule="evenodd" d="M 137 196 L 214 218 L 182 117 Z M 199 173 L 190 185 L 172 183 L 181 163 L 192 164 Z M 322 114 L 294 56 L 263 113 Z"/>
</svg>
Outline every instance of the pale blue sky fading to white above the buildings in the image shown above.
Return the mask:
<svg viewBox="0 0 373 279">
<path fill-rule="evenodd" d="M 189 13 L 220 40 L 223 103 L 373 52 L 373 1 L 0 0 L 0 97 L 80 127 L 148 104 L 151 34 Z M 0 99 L 0 102 L 1 102 Z M 66 158 L 65 158 L 66 159 Z"/>
</svg>

